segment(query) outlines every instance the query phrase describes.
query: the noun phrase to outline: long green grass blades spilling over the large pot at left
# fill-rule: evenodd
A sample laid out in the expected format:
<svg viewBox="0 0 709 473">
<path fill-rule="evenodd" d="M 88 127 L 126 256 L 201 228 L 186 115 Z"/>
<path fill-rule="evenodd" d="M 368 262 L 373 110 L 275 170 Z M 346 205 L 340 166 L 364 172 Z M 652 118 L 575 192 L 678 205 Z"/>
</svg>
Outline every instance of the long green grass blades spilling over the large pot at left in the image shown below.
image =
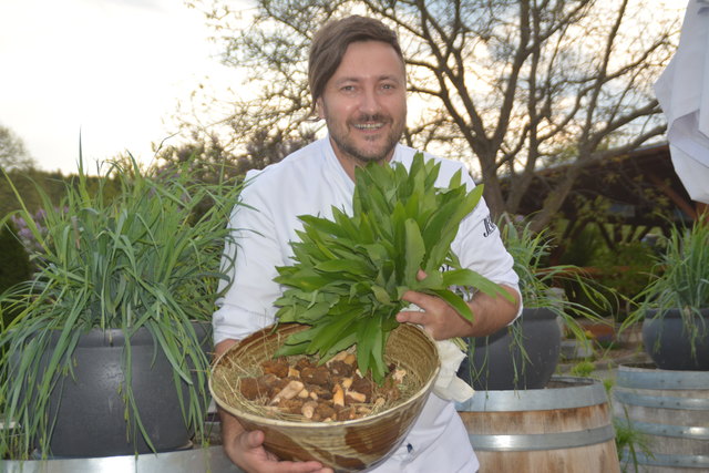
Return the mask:
<svg viewBox="0 0 709 473">
<path fill-rule="evenodd" d="M 130 370 L 131 336 L 143 327 L 173 367 L 175 389 L 188 385 L 188 397 L 181 398 L 183 415 L 202 433 L 209 358 L 193 322 L 210 320 L 218 281 L 226 279 L 228 268 L 220 267 L 229 238 L 225 222 L 242 186 L 206 185 L 188 169 L 152 176 L 134 161 L 99 171 L 103 174 L 88 178 L 80 167 L 79 176 L 65 183 L 60 203 L 38 186 L 45 210 L 42 229 L 8 177 L 22 205 L 17 214 L 40 249 L 32 255 L 38 270 L 31 279 L 0 295 L 0 308 L 16 315 L 0 332 L 0 421 L 22 429 L 21 435 L 0 429 L 0 455 L 27 455 L 35 439 L 48 451 L 50 394 L 59 378 L 72 376 L 72 353 L 81 336 L 95 328 L 126 335 L 126 421 L 137 425 L 148 444 Z M 121 192 L 109 198 L 106 189 L 116 182 Z M 205 200 L 212 206 L 197 214 Z M 55 343 L 50 342 L 53 337 Z"/>
</svg>

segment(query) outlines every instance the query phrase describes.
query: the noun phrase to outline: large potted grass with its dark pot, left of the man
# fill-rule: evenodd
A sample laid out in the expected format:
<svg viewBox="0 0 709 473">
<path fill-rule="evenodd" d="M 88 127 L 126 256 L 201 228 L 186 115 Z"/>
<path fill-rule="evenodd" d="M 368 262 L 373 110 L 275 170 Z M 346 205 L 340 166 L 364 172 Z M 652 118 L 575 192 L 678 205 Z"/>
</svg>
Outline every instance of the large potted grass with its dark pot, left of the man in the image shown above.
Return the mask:
<svg viewBox="0 0 709 473">
<path fill-rule="evenodd" d="M 0 455 L 130 455 L 204 438 L 209 320 L 240 186 L 134 161 L 88 176 L 80 158 L 62 202 L 38 191 L 41 230 L 17 212 L 38 269 L 0 296 L 16 313 L 0 333 Z"/>
</svg>

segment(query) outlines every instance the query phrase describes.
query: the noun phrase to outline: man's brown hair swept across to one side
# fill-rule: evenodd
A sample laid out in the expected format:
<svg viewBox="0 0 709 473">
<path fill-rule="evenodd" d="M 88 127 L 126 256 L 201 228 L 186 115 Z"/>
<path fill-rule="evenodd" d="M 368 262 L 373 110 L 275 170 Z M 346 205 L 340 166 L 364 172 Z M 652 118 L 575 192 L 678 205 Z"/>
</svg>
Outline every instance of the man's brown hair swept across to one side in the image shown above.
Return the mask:
<svg viewBox="0 0 709 473">
<path fill-rule="evenodd" d="M 325 84 L 340 66 L 347 47 L 358 41 L 388 43 L 404 62 L 397 33 L 381 21 L 357 14 L 330 21 L 316 33 L 310 47 L 308 83 L 314 106 L 322 95 Z"/>
</svg>

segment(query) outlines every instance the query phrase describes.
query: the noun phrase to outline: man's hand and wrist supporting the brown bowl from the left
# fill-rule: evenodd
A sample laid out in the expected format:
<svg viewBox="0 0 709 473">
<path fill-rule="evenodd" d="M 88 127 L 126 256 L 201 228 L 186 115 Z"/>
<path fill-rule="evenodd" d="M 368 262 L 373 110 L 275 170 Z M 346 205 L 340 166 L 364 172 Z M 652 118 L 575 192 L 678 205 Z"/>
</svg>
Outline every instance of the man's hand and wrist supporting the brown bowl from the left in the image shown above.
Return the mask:
<svg viewBox="0 0 709 473">
<path fill-rule="evenodd" d="M 224 340 L 215 347 L 215 359 L 224 353 L 235 340 Z M 222 444 L 226 455 L 247 473 L 332 473 L 318 462 L 280 461 L 264 448 L 261 431 L 247 431 L 230 413 L 219 409 L 222 419 Z"/>
</svg>

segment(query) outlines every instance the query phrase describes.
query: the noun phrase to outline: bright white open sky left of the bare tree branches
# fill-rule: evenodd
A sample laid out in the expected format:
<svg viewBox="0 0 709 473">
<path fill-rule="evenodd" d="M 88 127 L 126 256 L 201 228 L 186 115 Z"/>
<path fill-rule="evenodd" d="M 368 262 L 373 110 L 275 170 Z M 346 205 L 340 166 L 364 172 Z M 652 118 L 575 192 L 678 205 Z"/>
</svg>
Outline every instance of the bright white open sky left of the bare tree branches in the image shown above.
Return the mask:
<svg viewBox="0 0 709 473">
<path fill-rule="evenodd" d="M 239 80 L 210 33 L 182 0 L 2 0 L 0 124 L 41 169 L 75 173 L 80 135 L 85 163 L 150 163 L 179 102 Z"/>
</svg>

